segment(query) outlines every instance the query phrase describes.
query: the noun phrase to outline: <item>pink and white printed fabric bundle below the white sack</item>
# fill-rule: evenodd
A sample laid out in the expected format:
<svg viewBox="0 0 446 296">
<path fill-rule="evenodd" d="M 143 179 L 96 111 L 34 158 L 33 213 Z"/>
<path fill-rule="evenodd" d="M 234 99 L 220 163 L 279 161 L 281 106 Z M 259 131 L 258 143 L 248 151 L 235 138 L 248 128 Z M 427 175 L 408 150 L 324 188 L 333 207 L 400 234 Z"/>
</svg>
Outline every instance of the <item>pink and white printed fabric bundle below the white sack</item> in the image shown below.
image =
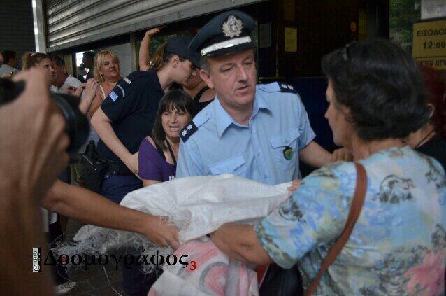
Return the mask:
<svg viewBox="0 0 446 296">
<path fill-rule="evenodd" d="M 229 259 L 210 240 L 188 241 L 175 255 L 187 255 L 189 265 L 164 265 L 148 296 L 259 295 L 256 272 L 245 263 Z"/>
</svg>

